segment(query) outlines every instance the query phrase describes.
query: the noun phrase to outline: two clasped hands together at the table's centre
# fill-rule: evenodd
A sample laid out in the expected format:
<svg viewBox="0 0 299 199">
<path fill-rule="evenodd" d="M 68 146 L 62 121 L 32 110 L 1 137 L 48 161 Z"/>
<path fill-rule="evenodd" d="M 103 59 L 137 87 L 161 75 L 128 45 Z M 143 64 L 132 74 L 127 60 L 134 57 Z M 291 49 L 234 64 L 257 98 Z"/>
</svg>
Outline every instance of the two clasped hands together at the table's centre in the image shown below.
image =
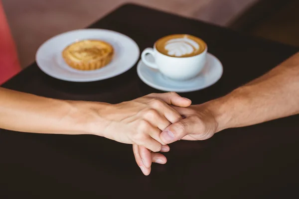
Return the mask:
<svg viewBox="0 0 299 199">
<path fill-rule="evenodd" d="M 191 100 L 171 92 L 111 105 L 99 113 L 106 123 L 103 136 L 133 144 L 137 164 L 149 175 L 152 162 L 166 163 L 166 157 L 158 152 L 168 152 L 167 144 L 180 139 L 204 140 L 215 133 L 213 115 L 190 104 Z"/>
</svg>

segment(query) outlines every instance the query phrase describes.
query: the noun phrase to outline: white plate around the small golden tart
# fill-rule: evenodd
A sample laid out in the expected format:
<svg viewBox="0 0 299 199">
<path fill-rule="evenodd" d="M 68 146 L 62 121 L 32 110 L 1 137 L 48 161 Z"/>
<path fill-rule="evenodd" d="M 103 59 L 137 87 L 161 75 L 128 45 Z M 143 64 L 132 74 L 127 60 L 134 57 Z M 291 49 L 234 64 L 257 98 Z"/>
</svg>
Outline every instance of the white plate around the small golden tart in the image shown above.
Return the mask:
<svg viewBox="0 0 299 199">
<path fill-rule="evenodd" d="M 63 49 L 69 44 L 99 39 L 110 43 L 115 55 L 105 67 L 93 71 L 80 71 L 69 67 L 62 58 Z M 140 56 L 139 47 L 130 37 L 105 29 L 80 29 L 59 34 L 43 43 L 36 52 L 38 67 L 49 76 L 71 82 L 92 82 L 115 77 L 131 69 Z"/>
</svg>

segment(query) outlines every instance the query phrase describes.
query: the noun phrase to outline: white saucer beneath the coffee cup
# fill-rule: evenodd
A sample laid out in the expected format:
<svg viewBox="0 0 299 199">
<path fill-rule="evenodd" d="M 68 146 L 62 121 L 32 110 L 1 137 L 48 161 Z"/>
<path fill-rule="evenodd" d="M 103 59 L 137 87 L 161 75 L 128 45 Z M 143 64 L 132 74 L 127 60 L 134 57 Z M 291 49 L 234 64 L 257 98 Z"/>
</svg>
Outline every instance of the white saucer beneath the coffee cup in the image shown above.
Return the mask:
<svg viewBox="0 0 299 199">
<path fill-rule="evenodd" d="M 151 55 L 148 56 L 149 61 L 153 61 L 153 57 Z M 138 63 L 137 73 L 140 79 L 152 88 L 166 92 L 192 92 L 215 84 L 222 76 L 223 67 L 214 55 L 208 53 L 207 63 L 203 71 L 190 80 L 171 80 L 162 75 L 158 70 L 149 68 L 142 60 Z"/>
</svg>

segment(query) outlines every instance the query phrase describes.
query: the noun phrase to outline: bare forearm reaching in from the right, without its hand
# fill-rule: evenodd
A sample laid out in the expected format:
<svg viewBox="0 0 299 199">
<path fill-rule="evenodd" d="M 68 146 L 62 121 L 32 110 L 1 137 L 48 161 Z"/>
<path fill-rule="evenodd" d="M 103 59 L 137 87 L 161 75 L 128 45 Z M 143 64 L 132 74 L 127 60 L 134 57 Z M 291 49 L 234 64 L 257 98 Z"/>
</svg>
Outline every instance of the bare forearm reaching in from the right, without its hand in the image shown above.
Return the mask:
<svg viewBox="0 0 299 199">
<path fill-rule="evenodd" d="M 217 131 L 299 113 L 299 53 L 225 97 L 204 104 L 218 120 Z"/>
</svg>

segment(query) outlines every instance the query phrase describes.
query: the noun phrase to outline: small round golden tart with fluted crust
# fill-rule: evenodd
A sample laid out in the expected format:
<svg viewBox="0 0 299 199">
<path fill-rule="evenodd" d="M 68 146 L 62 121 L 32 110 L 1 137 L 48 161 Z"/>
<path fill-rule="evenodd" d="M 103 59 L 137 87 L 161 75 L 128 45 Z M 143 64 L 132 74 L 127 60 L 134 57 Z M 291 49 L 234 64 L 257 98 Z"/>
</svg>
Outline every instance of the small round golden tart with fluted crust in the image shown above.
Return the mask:
<svg viewBox="0 0 299 199">
<path fill-rule="evenodd" d="M 64 61 L 78 70 L 96 70 L 109 64 L 113 47 L 100 40 L 82 40 L 67 46 L 62 51 Z"/>
</svg>

